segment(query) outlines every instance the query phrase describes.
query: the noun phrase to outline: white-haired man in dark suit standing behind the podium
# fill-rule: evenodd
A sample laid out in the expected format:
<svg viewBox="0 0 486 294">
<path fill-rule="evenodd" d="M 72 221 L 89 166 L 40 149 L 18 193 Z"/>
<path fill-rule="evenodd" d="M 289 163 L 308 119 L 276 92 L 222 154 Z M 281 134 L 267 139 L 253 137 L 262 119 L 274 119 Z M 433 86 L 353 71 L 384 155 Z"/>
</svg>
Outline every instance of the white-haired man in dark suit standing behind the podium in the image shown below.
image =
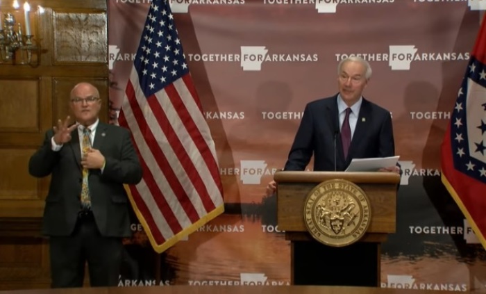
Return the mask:
<svg viewBox="0 0 486 294">
<path fill-rule="evenodd" d="M 362 92 L 371 78 L 371 66 L 359 57 L 349 57 L 337 67 L 339 92 L 305 106 L 301 124 L 289 152 L 284 170 L 305 170 L 314 155 L 315 171 L 344 171 L 353 158 L 394 156 L 392 116 L 385 108 L 364 99 Z M 346 144 L 342 127 L 346 108 L 351 137 Z M 398 166 L 380 171 L 400 172 Z M 275 192 L 275 182 L 267 195 Z"/>
</svg>

